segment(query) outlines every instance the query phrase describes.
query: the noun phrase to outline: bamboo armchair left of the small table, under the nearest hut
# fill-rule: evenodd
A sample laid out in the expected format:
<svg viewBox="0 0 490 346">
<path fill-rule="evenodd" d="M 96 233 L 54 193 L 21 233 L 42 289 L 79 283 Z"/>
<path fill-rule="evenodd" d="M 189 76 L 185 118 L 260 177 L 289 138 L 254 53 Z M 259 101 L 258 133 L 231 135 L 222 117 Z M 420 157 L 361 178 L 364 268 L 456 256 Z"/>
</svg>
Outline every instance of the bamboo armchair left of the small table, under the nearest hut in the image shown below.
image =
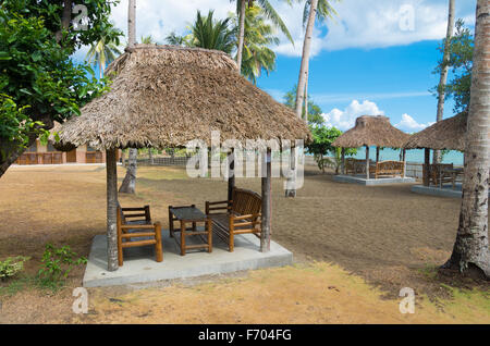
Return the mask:
<svg viewBox="0 0 490 346">
<path fill-rule="evenodd" d="M 155 245 L 157 262 L 163 260 L 161 224 L 160 222 L 151 224 L 149 206 L 143 208 L 121 208 L 119 206 L 117 225 L 118 261 L 120 267 L 123 265 L 123 249 L 127 247 Z"/>
</svg>

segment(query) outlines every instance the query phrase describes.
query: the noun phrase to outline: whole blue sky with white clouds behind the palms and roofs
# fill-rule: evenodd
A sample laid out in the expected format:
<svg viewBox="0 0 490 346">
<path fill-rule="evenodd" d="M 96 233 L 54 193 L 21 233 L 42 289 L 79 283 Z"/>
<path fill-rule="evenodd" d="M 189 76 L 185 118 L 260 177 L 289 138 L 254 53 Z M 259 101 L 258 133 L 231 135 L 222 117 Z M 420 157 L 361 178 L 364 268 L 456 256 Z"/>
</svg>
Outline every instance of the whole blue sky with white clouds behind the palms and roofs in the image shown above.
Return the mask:
<svg viewBox="0 0 490 346">
<path fill-rule="evenodd" d="M 293 8 L 270 0 L 294 39 L 283 35 L 272 47 L 277 70 L 262 75 L 258 86 L 277 100 L 298 78 L 304 30 L 304 1 Z M 151 35 L 163 42 L 172 30 L 183 33 L 196 11 L 215 10 L 216 17 L 234 11 L 229 0 L 137 0 L 136 35 Z M 332 1 L 338 15 L 317 23 L 311 47 L 308 92 L 323 111 L 329 125 L 347 129 L 355 118 L 384 114 L 392 124 L 408 133 L 417 132 L 436 119 L 437 99 L 428 91 L 438 84 L 432 74 L 445 36 L 449 0 L 343 0 Z M 456 1 L 456 17 L 471 26 L 476 0 Z M 113 9 L 112 21 L 124 33 L 127 0 Z M 75 59 L 85 57 L 82 49 Z M 444 118 L 453 115 L 446 102 Z"/>
</svg>

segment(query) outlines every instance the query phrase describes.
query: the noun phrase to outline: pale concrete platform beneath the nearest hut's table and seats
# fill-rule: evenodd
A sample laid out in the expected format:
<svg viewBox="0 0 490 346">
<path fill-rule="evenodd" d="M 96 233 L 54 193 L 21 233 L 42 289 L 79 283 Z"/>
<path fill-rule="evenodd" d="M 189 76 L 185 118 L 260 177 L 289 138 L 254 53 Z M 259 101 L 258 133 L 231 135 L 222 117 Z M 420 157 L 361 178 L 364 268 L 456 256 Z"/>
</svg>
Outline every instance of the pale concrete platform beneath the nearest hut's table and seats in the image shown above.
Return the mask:
<svg viewBox="0 0 490 346">
<path fill-rule="evenodd" d="M 228 245 L 213 236 L 212 252 L 194 251 L 180 255 L 180 248 L 169 232 L 162 230 L 163 261 L 155 261 L 152 246 L 124 249 L 124 265 L 115 272 L 107 271 L 107 237 L 94 237 L 83 285 L 84 287 L 113 286 L 148 283 L 160 280 L 186 279 L 210 274 L 230 273 L 268 267 L 289 265 L 293 254 L 271 242 L 270 251 L 262 254 L 260 239 L 253 234 L 235 236 L 235 250 L 228 251 Z M 188 245 L 194 237 L 187 237 Z"/>
</svg>

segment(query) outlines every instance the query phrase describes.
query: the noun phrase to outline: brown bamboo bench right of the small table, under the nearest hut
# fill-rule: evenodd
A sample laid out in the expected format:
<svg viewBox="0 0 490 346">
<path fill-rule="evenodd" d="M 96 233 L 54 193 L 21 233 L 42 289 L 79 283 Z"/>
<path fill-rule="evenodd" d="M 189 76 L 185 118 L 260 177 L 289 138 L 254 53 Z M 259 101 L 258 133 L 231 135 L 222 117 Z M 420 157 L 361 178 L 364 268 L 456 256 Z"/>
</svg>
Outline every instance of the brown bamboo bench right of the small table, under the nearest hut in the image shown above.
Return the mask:
<svg viewBox="0 0 490 346">
<path fill-rule="evenodd" d="M 211 219 L 212 231 L 234 250 L 237 234 L 254 234 L 260 237 L 262 198 L 257 193 L 233 189 L 233 199 L 206 201 L 206 214 Z"/>
</svg>

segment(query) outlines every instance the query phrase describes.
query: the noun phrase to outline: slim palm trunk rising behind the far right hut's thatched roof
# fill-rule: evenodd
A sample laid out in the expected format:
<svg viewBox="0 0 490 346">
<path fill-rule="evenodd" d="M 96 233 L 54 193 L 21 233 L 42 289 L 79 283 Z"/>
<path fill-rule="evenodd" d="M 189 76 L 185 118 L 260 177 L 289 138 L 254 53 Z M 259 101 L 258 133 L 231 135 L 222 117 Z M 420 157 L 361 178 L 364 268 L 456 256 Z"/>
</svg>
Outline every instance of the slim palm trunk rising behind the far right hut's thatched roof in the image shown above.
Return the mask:
<svg viewBox="0 0 490 346">
<path fill-rule="evenodd" d="M 451 37 L 453 37 L 453 29 L 454 29 L 454 8 L 455 8 L 455 1 L 456 0 L 449 0 L 449 16 L 448 16 L 448 32 L 445 34 L 445 45 L 444 45 L 444 54 L 442 58 L 443 61 L 443 67 L 441 69 L 441 78 L 439 81 L 439 87 L 438 87 L 438 114 L 436 118 L 437 122 L 440 122 L 442 120 L 442 116 L 444 115 L 444 98 L 445 98 L 445 84 L 448 82 L 448 62 L 450 60 L 450 53 L 451 53 Z M 433 163 L 440 163 L 441 162 L 441 150 L 434 150 L 433 151 Z"/>
</svg>

